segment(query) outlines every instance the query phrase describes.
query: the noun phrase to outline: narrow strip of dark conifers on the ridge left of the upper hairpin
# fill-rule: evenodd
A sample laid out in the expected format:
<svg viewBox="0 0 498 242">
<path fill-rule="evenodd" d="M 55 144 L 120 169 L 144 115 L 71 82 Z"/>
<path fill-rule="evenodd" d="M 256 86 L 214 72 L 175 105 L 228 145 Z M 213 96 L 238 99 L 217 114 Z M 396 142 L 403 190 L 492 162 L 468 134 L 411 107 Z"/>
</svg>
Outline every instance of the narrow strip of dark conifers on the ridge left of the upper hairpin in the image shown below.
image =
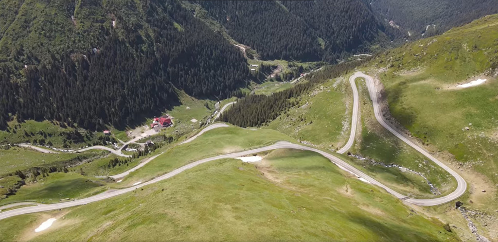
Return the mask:
<svg viewBox="0 0 498 242">
<path fill-rule="evenodd" d="M 349 70 L 364 64 L 368 60 L 341 63 L 334 66 L 326 66 L 319 72 L 308 77 L 309 82 L 297 84 L 296 86 L 277 92 L 273 95 L 249 95 L 225 111 L 219 121 L 229 122 L 241 127 L 257 127 L 272 121 L 291 107 L 296 106 L 298 98 L 317 84 L 326 82 L 332 78 L 339 77 Z"/>
</svg>

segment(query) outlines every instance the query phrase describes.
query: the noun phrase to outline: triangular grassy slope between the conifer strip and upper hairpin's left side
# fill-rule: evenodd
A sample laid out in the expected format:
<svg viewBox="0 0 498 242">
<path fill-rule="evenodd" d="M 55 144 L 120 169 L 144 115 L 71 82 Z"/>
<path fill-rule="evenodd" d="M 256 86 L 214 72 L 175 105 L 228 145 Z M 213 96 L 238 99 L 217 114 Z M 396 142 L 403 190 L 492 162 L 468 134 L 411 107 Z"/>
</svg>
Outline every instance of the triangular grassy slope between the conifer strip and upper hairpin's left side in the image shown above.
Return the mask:
<svg viewBox="0 0 498 242">
<path fill-rule="evenodd" d="M 344 103 L 351 95 L 351 88 L 344 82 L 344 78 L 331 80 L 302 95 L 298 108 L 282 114 L 268 127 L 321 148 L 342 145 L 349 137 L 349 130 L 343 131 L 349 117 Z"/>
</svg>

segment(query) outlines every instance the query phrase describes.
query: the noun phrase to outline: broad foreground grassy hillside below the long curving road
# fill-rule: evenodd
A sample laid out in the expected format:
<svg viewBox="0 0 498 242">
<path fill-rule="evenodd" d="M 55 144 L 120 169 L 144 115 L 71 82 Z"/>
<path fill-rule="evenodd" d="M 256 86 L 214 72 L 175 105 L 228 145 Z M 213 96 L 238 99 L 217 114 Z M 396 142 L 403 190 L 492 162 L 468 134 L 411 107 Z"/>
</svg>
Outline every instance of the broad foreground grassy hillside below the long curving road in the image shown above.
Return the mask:
<svg viewBox="0 0 498 242">
<path fill-rule="evenodd" d="M 117 198 L 9 218 L 0 240 L 458 240 L 317 154 L 276 151 L 257 167 L 226 159 Z M 58 220 L 34 234 L 49 217 Z"/>
</svg>

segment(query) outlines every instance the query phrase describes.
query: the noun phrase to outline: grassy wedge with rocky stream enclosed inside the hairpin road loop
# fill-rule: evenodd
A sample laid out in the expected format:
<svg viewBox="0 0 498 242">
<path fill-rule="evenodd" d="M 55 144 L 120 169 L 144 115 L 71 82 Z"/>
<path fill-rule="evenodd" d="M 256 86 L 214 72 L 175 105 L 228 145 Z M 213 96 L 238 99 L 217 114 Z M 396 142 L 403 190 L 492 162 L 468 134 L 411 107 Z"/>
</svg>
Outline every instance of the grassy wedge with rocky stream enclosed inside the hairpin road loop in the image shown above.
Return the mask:
<svg viewBox="0 0 498 242">
<path fill-rule="evenodd" d="M 421 172 L 443 195 L 452 192 L 456 188 L 456 181 L 453 177 L 383 128 L 373 115 L 372 102 L 365 81 L 357 79 L 356 82 L 360 94 L 361 133 L 357 134 L 353 153 L 376 162 L 397 164 Z M 362 160 L 354 160 L 354 162 L 363 166 L 373 177 L 385 181 L 403 194 L 411 194 L 420 198 L 434 197 L 427 182 L 419 175 L 401 172 L 395 167 L 369 165 L 370 163 Z"/>
</svg>

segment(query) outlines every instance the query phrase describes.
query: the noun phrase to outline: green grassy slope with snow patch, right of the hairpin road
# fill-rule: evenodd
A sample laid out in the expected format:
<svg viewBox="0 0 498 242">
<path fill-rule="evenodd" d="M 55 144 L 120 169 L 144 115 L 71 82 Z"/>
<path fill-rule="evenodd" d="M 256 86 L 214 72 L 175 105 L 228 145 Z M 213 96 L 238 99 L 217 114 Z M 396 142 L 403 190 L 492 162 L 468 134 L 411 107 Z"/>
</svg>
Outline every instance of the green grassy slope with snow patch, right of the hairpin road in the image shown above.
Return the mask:
<svg viewBox="0 0 498 242">
<path fill-rule="evenodd" d="M 390 67 L 379 78 L 392 116 L 430 150 L 449 152 L 465 171 L 484 174 L 486 184 L 471 189 L 491 192 L 498 184 L 497 41 L 498 15 L 491 15 L 373 60 L 375 68 Z M 455 89 L 478 78 L 488 81 Z M 496 193 L 490 196 L 496 201 Z"/>
</svg>

